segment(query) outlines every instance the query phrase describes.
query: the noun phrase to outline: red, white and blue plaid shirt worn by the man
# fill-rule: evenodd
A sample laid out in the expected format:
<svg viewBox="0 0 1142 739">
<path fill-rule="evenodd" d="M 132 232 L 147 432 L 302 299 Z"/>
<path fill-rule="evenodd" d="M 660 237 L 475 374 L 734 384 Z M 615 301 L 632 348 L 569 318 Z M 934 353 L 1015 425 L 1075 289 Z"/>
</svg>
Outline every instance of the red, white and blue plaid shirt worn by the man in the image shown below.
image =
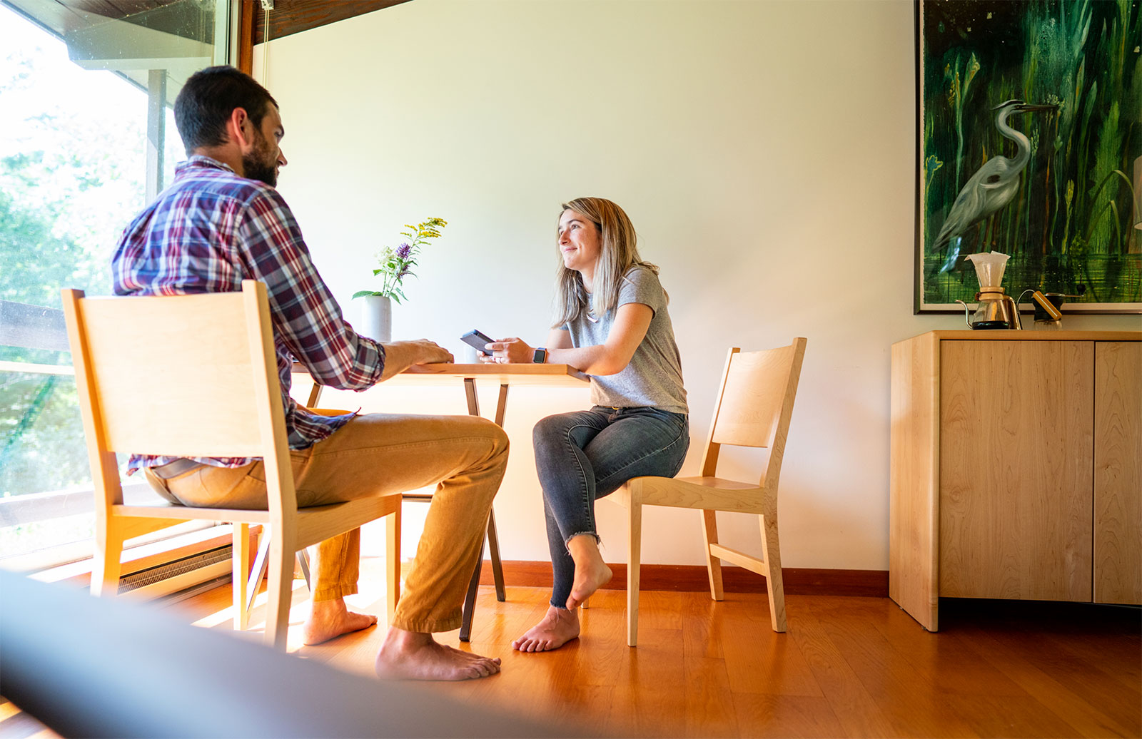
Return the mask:
<svg viewBox="0 0 1142 739">
<path fill-rule="evenodd" d="M 233 292 L 243 279 L 265 283 L 291 449 L 313 446 L 355 415 L 322 416 L 299 406 L 289 395 L 295 358 L 323 385 L 364 390 L 380 380 L 384 347 L 345 323 L 282 196 L 208 156 L 176 167 L 170 187 L 123 232 L 111 268 L 116 295 Z M 132 455 L 128 471 L 176 458 Z M 256 460 L 195 457 L 230 468 Z"/>
</svg>

